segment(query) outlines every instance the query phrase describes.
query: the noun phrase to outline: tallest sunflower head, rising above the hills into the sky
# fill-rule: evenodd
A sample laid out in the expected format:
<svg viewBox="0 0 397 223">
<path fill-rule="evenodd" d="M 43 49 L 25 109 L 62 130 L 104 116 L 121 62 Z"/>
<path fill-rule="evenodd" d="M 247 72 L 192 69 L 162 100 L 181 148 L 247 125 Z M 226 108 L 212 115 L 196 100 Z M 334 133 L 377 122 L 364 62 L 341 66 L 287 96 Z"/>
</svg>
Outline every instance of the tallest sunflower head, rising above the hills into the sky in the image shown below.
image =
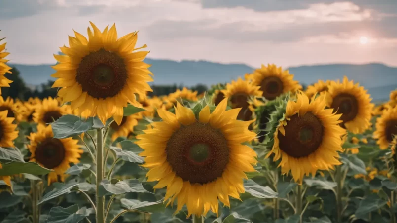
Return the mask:
<svg viewBox="0 0 397 223">
<path fill-rule="evenodd" d="M 70 47 L 61 47 L 65 56 L 54 55 L 60 63 L 53 66 L 58 78 L 53 87 L 62 87 L 58 95 L 63 102 L 71 102 L 72 109 L 79 112 L 91 111 L 103 123 L 113 116 L 120 124 L 123 107 L 127 103 L 138 105 L 135 93 L 152 91 L 147 84 L 153 81 L 143 62 L 148 51 L 135 52 L 138 33 L 130 33 L 117 39 L 116 26 L 101 31 L 91 23 L 94 32 L 88 28 L 88 40 L 74 32 L 69 37 Z"/>
</svg>

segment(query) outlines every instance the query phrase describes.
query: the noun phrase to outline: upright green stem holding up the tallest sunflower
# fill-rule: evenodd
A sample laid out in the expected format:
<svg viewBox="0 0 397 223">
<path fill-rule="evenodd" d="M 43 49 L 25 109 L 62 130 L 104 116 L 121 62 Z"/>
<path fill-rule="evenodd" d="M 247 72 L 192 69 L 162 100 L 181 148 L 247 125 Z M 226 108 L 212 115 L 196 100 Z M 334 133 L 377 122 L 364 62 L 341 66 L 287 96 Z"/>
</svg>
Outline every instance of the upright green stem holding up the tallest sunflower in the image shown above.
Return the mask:
<svg viewBox="0 0 397 223">
<path fill-rule="evenodd" d="M 96 182 L 96 198 L 97 198 L 97 223 L 105 223 L 105 197 L 99 195 L 99 185 L 104 179 L 104 132 L 103 129 L 97 130 L 97 182 Z"/>
</svg>

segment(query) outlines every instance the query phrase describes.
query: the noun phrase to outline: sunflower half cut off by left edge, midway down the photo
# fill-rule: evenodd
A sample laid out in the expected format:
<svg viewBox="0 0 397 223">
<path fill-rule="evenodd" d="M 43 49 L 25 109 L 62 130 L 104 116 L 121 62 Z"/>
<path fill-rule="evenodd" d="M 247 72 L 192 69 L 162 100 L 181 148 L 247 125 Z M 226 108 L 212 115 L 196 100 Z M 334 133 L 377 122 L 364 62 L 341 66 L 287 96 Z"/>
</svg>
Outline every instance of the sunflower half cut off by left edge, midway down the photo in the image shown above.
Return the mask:
<svg viewBox="0 0 397 223">
<path fill-rule="evenodd" d="M 7 117 L 8 111 L 0 111 L 0 147 L 14 147 L 14 140 L 18 138 L 17 125 L 14 118 Z"/>
</svg>

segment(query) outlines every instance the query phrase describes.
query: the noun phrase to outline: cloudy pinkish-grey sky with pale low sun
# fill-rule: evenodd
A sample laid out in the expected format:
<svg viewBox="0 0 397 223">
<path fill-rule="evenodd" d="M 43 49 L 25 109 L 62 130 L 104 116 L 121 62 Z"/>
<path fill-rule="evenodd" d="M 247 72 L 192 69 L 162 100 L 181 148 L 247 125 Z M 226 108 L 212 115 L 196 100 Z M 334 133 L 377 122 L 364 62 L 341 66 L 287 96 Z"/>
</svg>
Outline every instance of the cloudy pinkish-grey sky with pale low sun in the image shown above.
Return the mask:
<svg viewBox="0 0 397 223">
<path fill-rule="evenodd" d="M 397 0 L 0 0 L 11 63 L 55 63 L 89 21 L 139 30 L 154 59 L 397 67 Z"/>
</svg>

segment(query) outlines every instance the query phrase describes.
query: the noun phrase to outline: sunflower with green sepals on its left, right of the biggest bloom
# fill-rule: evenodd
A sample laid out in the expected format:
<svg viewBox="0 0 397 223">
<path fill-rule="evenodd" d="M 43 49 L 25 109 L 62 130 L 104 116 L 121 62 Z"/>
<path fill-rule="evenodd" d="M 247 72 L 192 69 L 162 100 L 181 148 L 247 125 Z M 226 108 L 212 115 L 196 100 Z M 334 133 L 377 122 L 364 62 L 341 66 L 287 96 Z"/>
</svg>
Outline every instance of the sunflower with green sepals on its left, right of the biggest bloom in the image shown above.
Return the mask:
<svg viewBox="0 0 397 223">
<path fill-rule="evenodd" d="M 341 115 L 325 109 L 324 96 L 312 98 L 309 103 L 309 98 L 299 91 L 296 101 L 288 101 L 283 118 L 275 126 L 273 148 L 266 156 L 274 153 L 273 161 L 281 159 L 283 174 L 291 170 L 299 184 L 303 175 L 315 176 L 317 170 L 341 164 L 338 151 L 343 151 L 341 136 L 345 130 L 338 125 Z"/>
</svg>

